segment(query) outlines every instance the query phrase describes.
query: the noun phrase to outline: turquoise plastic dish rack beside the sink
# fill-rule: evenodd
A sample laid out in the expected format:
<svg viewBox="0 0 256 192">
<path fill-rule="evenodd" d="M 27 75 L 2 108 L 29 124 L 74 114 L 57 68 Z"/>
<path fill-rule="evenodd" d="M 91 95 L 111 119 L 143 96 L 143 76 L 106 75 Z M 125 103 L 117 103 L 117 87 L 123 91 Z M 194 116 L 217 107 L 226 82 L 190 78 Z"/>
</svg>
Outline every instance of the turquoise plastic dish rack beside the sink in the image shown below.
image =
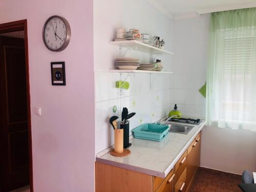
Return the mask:
<svg viewBox="0 0 256 192">
<path fill-rule="evenodd" d="M 162 141 L 168 134 L 168 130 L 168 125 L 144 123 L 133 129 L 133 136 L 138 139 Z"/>
</svg>

